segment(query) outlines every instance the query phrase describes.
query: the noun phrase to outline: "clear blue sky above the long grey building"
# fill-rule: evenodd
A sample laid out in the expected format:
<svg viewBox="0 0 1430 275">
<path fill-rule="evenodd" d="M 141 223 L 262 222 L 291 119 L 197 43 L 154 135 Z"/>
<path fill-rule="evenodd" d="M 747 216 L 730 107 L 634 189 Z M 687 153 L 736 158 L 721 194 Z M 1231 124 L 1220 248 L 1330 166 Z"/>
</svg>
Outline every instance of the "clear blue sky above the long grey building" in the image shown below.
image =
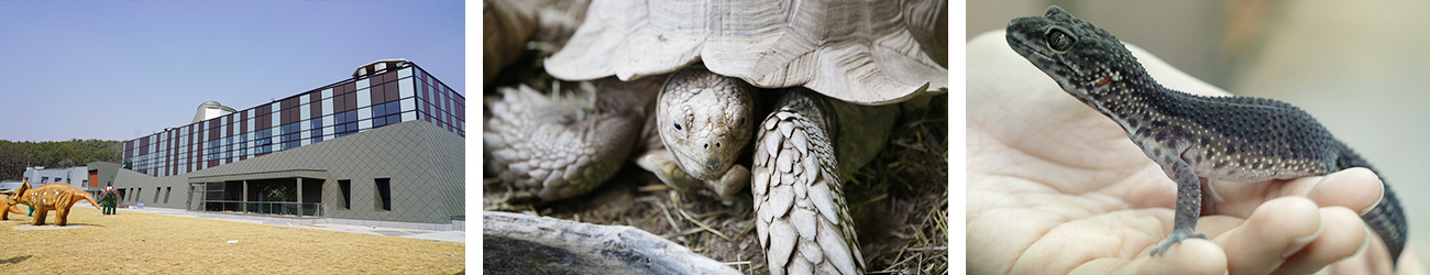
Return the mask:
<svg viewBox="0 0 1430 275">
<path fill-rule="evenodd" d="M 0 1 L 0 139 L 127 140 L 405 57 L 466 95 L 462 1 Z"/>
</svg>

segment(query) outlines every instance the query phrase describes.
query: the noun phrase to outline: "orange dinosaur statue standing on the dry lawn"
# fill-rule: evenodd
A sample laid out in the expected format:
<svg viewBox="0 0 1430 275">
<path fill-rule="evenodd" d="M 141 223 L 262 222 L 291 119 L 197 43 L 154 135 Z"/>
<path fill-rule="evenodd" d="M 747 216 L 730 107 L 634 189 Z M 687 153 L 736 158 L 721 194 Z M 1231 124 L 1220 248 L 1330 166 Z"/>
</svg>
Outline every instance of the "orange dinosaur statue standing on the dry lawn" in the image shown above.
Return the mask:
<svg viewBox="0 0 1430 275">
<path fill-rule="evenodd" d="M 14 196 L 6 199 L 4 208 L 30 203 L 34 206 L 34 222 L 30 225 L 44 225 L 44 215 L 54 211 L 54 226 L 64 226 L 66 218 L 70 216 L 70 206 L 74 206 L 80 199 L 90 201 L 90 205 L 99 209 L 99 201 L 94 196 L 69 183 L 49 183 L 30 188 L 30 182 L 26 180 L 20 183 L 20 189 L 16 189 L 14 193 Z M 0 221 L 6 219 L 10 219 L 10 212 L 0 212 Z"/>
</svg>

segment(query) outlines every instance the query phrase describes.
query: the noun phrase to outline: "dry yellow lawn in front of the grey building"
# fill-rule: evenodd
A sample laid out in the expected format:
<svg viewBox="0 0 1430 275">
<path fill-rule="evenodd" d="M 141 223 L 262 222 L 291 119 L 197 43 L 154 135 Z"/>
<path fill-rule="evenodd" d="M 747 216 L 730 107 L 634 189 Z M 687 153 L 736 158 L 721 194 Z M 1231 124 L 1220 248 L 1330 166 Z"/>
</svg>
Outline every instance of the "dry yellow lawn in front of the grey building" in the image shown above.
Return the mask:
<svg viewBox="0 0 1430 275">
<path fill-rule="evenodd" d="M 0 274 L 460 274 L 466 243 L 119 212 L 0 221 Z M 237 241 L 229 243 L 229 241 Z"/>
</svg>

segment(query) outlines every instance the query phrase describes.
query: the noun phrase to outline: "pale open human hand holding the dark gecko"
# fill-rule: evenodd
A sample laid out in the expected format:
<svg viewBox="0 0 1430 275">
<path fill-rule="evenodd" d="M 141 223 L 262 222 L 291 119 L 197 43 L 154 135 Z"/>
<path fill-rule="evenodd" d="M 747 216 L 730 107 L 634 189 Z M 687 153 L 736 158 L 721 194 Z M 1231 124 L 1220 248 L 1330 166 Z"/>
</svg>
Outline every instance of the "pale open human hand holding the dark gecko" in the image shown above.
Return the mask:
<svg viewBox="0 0 1430 275">
<path fill-rule="evenodd" d="M 1130 50 L 1167 87 L 1227 95 Z M 1002 32 L 970 40 L 967 69 L 970 274 L 1308 274 L 1331 264 L 1326 271 L 1391 271 L 1358 216 L 1381 196 L 1380 180 L 1363 168 L 1211 180 L 1221 201 L 1204 206 L 1197 226 L 1210 239 L 1150 256 L 1173 229 L 1177 189 L 1163 169 L 1113 120 L 1008 49 Z"/>
</svg>

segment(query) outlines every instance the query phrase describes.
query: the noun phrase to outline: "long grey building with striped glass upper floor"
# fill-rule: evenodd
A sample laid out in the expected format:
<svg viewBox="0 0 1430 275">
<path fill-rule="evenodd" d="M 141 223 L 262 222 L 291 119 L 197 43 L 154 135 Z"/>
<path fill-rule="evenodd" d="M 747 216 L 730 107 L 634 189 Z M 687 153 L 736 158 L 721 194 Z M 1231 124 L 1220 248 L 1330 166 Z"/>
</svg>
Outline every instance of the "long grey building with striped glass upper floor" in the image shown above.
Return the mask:
<svg viewBox="0 0 1430 275">
<path fill-rule="evenodd" d="M 89 163 L 90 190 L 113 186 L 126 205 L 452 225 L 465 219 L 465 106 L 422 67 L 379 60 L 127 140 L 122 163 Z"/>
</svg>

